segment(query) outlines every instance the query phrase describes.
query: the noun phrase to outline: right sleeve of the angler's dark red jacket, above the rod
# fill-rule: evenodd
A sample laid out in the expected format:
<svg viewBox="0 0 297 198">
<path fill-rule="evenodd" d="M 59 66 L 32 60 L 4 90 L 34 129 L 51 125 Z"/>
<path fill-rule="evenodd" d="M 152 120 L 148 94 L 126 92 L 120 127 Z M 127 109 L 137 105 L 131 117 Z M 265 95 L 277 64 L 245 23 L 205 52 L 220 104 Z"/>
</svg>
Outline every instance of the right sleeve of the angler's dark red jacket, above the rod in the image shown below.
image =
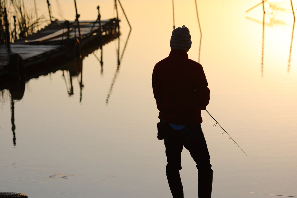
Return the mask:
<svg viewBox="0 0 297 198">
<path fill-rule="evenodd" d="M 208 86 L 208 83 L 206 80 L 206 76 L 204 74 L 203 67 L 200 65 L 198 67 L 197 75 L 194 80 L 194 88 L 195 88 L 198 102 L 200 104 L 201 109 L 206 107 L 209 103 L 210 91 L 207 86 Z"/>
</svg>

